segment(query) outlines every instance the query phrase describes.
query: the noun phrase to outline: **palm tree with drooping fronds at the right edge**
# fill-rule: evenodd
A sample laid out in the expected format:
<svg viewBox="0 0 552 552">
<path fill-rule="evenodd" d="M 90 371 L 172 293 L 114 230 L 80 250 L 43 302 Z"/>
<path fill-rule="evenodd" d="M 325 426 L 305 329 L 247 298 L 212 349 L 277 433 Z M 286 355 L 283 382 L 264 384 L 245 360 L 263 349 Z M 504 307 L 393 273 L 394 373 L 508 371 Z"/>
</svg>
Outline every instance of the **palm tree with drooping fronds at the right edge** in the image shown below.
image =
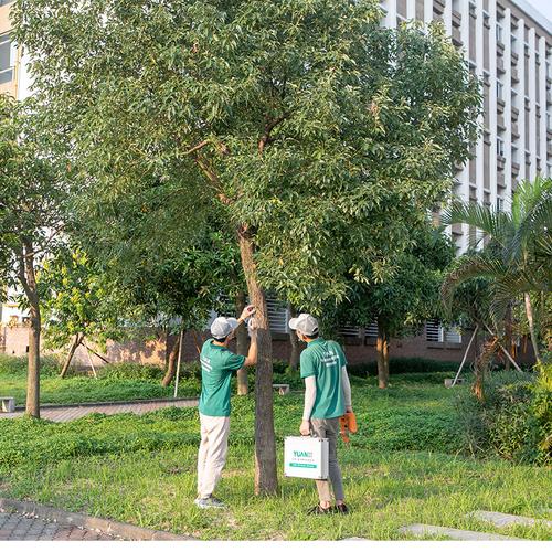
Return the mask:
<svg viewBox="0 0 552 552">
<path fill-rule="evenodd" d="M 442 286 L 448 307 L 459 284 L 474 277 L 491 282 L 490 317 L 498 327 L 516 298 L 523 297 L 531 342 L 541 361 L 534 328 L 531 293 L 550 293 L 552 277 L 552 179 L 538 177 L 523 181 L 516 190 L 511 212 L 506 213 L 477 203 L 455 202 L 444 214 L 445 224 L 466 223 L 482 235 L 482 250 L 460 257 Z"/>
</svg>

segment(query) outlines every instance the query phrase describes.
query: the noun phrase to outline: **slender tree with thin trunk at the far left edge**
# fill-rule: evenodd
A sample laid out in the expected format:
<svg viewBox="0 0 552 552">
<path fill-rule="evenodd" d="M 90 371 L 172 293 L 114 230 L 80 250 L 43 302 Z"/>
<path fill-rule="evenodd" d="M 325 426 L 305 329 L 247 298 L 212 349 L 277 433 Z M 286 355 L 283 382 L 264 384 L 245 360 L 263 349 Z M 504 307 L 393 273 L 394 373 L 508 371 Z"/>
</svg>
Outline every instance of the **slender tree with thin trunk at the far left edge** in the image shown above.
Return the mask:
<svg viewBox="0 0 552 552">
<path fill-rule="evenodd" d="M 34 123 L 29 104 L 0 95 L 0 279 L 24 293 L 30 317 L 25 412 L 40 417 L 42 297 L 36 270 L 60 241 L 65 197 Z"/>
</svg>

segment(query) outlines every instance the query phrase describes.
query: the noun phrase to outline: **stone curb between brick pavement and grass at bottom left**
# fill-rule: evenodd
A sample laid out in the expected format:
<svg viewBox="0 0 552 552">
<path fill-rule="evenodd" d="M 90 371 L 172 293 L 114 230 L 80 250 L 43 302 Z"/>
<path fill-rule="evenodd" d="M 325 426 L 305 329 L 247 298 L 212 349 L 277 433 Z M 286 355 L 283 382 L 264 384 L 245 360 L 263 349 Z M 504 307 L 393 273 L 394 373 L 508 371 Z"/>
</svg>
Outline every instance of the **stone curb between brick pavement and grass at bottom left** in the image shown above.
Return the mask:
<svg viewBox="0 0 552 552">
<path fill-rule="evenodd" d="M 92 531 L 102 531 L 107 534 L 121 537 L 130 541 L 194 541 L 190 535 L 169 533 L 168 531 L 157 531 L 142 527 L 121 523 L 109 519 L 94 518 L 84 513 L 73 513 L 59 510 L 50 506 L 35 505 L 34 502 L 23 502 L 9 498 L 0 498 L 0 508 L 14 510 L 18 513 L 30 513 L 38 518 L 49 519 L 57 523 L 76 526 Z"/>
</svg>

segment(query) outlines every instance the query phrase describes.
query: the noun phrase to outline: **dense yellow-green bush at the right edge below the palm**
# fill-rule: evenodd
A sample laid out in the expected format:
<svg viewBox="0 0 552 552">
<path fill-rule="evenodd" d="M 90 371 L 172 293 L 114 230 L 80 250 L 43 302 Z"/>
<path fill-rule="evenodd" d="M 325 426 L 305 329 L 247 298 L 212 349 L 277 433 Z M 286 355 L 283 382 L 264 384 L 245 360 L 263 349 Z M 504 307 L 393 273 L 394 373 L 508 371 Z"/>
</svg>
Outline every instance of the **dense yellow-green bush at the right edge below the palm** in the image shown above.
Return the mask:
<svg viewBox="0 0 552 552">
<path fill-rule="evenodd" d="M 549 369 L 550 370 L 550 367 Z M 552 389 L 537 373 L 493 372 L 485 382 L 485 401 L 459 403 L 466 447 L 513 463 L 550 464 Z"/>
</svg>

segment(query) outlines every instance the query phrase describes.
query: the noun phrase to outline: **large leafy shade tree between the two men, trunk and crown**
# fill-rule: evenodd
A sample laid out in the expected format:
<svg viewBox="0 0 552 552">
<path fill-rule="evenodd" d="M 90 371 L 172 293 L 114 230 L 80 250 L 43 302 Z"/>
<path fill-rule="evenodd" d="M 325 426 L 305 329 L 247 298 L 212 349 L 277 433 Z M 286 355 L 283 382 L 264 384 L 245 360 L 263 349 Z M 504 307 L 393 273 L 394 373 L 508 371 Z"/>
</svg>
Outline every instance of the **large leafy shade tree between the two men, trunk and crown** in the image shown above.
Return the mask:
<svg viewBox="0 0 552 552">
<path fill-rule="evenodd" d="M 348 273 L 385 270 L 467 158 L 477 82 L 438 28 L 381 29 L 375 0 L 17 6 L 86 209 L 171 190 L 187 215 L 159 224 L 185 232 L 214 208 L 233 233 L 259 328 L 255 488 L 275 492 L 265 291 L 321 305 Z"/>
</svg>

